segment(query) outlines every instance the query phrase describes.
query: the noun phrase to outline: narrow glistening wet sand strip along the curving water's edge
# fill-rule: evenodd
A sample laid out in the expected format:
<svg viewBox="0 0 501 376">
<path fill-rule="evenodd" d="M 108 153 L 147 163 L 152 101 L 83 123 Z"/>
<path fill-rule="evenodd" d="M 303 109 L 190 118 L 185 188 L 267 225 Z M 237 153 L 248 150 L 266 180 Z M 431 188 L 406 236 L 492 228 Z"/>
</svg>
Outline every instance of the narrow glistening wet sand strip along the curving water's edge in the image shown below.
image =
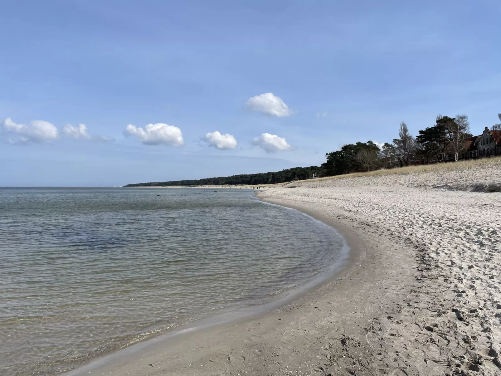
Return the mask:
<svg viewBox="0 0 501 376">
<path fill-rule="evenodd" d="M 258 191 L 259 192 L 259 191 Z M 257 196 L 256 196 L 257 197 Z M 318 289 L 326 284 L 331 284 L 333 280 L 337 279 L 343 274 L 343 271 L 354 262 L 354 258 L 357 255 L 357 249 L 352 247 L 345 234 L 336 227 L 333 221 L 329 221 L 326 218 L 319 216 L 317 213 L 302 210 L 300 207 L 295 205 L 287 205 L 288 203 L 280 202 L 278 200 L 266 200 L 257 197 L 263 204 L 277 205 L 285 207 L 292 210 L 297 210 L 307 217 L 311 217 L 312 220 L 322 223 L 324 226 L 328 226 L 334 232 L 336 232 L 342 239 L 344 246 L 339 250 L 339 253 L 335 256 L 335 261 L 329 265 L 327 270 L 322 271 L 318 276 L 313 279 L 306 280 L 304 284 L 298 286 L 292 290 L 281 293 L 278 298 L 272 301 L 267 301 L 263 304 L 227 309 L 221 313 L 217 313 L 213 316 L 196 319 L 187 324 L 180 325 L 173 329 L 169 329 L 167 332 L 162 333 L 153 338 L 147 339 L 145 341 L 137 342 L 132 345 L 126 346 L 124 348 L 114 350 L 110 353 L 98 356 L 97 358 L 90 359 L 88 362 L 84 362 L 82 365 L 75 369 L 58 373 L 63 376 L 78 376 L 84 374 L 103 374 L 107 371 L 108 367 L 116 368 L 118 366 L 126 366 L 130 355 L 134 354 L 144 354 L 144 352 L 157 352 L 157 348 L 170 345 L 177 340 L 188 341 L 187 336 L 196 336 L 197 333 L 209 332 L 212 328 L 220 327 L 228 329 L 233 325 L 238 325 L 245 323 L 249 320 L 254 320 L 262 317 L 266 317 L 268 314 L 281 310 L 288 305 L 293 305 L 298 300 L 308 299 L 308 296 L 315 293 Z M 326 276 L 324 276 L 326 274 Z M 143 355 L 141 355 L 143 356 Z M 124 359 L 126 357 L 126 359 Z M 125 360 L 125 361 L 123 361 Z M 199 369 L 197 369 L 199 371 Z M 128 371 L 130 372 L 130 371 Z M 110 374 L 110 373 L 108 373 Z M 111 372 L 111 374 L 114 374 Z M 117 373 L 120 374 L 120 373 Z M 133 374 L 133 373 L 130 373 Z M 138 373 L 141 374 L 141 373 Z M 156 374 L 156 373 L 148 373 Z M 159 373 L 162 374 L 162 373 Z M 165 374 L 165 373 L 163 373 Z"/>
</svg>

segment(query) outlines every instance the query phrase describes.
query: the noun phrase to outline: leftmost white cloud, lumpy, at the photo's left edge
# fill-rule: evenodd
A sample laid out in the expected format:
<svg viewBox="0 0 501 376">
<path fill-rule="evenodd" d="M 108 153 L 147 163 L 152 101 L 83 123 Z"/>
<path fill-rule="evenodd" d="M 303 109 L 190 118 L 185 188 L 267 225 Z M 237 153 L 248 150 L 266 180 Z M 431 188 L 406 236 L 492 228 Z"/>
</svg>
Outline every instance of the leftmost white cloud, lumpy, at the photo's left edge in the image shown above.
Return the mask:
<svg viewBox="0 0 501 376">
<path fill-rule="evenodd" d="M 10 117 L 3 121 L 3 128 L 7 133 L 18 136 L 11 143 L 45 142 L 59 138 L 58 128 L 44 120 L 33 120 L 30 124 L 17 124 Z"/>
</svg>

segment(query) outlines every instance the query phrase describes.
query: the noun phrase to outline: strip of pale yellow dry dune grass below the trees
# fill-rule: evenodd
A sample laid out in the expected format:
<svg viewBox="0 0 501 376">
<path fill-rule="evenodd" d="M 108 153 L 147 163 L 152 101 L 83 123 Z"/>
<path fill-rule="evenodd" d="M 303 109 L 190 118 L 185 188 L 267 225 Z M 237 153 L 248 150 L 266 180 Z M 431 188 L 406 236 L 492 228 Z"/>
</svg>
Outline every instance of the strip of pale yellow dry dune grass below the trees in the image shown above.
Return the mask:
<svg viewBox="0 0 501 376">
<path fill-rule="evenodd" d="M 414 174 L 414 173 L 439 172 L 439 171 L 448 172 L 454 170 L 468 170 L 468 169 L 489 168 L 489 167 L 501 167 L 501 157 L 481 158 L 481 159 L 473 159 L 459 162 L 448 162 L 448 163 L 423 164 L 419 166 L 380 169 L 368 172 L 354 172 L 354 173 L 347 173 L 344 175 L 317 177 L 315 179 L 308 179 L 308 180 L 298 180 L 296 182 L 343 179 L 348 177 L 363 177 L 363 176 Z"/>
</svg>

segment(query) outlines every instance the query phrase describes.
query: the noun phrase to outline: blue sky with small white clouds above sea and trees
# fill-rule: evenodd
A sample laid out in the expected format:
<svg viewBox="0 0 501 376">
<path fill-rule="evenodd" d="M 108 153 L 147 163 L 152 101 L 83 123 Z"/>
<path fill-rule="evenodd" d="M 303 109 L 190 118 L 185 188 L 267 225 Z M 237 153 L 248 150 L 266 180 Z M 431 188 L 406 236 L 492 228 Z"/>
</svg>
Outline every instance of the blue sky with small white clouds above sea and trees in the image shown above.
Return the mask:
<svg viewBox="0 0 501 376">
<path fill-rule="evenodd" d="M 501 2 L 3 2 L 0 186 L 320 165 L 501 112 Z"/>
</svg>

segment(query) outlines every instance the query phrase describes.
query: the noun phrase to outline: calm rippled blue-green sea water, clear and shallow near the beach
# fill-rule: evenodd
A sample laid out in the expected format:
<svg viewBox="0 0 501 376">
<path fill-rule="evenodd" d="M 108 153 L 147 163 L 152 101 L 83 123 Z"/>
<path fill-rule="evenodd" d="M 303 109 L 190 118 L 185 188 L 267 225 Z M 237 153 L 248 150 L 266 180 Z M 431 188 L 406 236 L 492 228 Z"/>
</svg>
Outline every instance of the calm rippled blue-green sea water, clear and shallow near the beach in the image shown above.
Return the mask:
<svg viewBox="0 0 501 376">
<path fill-rule="evenodd" d="M 51 374 L 308 281 L 342 246 L 248 190 L 0 189 L 0 374 Z"/>
</svg>

